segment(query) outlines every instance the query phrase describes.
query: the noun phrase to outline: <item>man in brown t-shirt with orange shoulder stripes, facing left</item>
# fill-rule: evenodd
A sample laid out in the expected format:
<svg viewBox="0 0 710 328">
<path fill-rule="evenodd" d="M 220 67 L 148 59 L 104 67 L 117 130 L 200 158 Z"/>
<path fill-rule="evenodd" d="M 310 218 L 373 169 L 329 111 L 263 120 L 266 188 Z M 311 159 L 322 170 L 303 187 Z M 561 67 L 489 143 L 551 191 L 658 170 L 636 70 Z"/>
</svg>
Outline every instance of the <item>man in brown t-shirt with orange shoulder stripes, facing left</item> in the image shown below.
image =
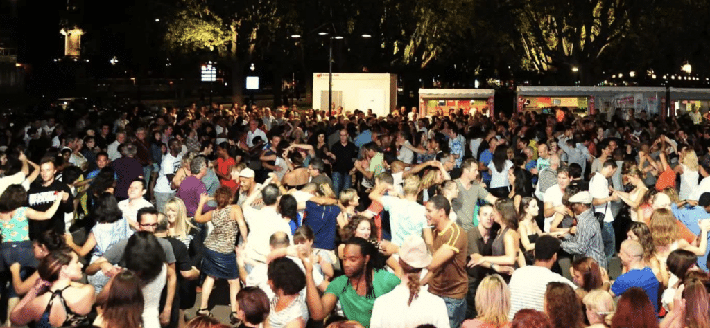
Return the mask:
<svg viewBox="0 0 710 328">
<path fill-rule="evenodd" d="M 458 328 L 466 317 L 466 293 L 469 276 L 466 273 L 466 232 L 449 219 L 451 204 L 444 196 L 429 198 L 427 222 L 434 227 L 434 256 L 427 266 L 422 284 L 429 283 L 430 293 L 444 299 L 449 326 Z"/>
</svg>

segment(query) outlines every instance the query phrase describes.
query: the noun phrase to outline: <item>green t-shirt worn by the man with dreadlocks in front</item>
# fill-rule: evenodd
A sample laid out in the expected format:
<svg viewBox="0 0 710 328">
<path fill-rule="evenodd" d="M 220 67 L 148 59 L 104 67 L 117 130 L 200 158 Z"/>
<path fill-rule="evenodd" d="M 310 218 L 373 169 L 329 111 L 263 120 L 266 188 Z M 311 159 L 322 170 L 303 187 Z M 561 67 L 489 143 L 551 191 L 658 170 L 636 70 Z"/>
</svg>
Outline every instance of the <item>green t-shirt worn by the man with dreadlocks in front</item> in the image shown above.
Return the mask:
<svg viewBox="0 0 710 328">
<path fill-rule="evenodd" d="M 325 292 L 337 296 L 338 300 L 340 300 L 340 305 L 343 307 L 345 317 L 349 320 L 360 322 L 365 328 L 370 327 L 370 317 L 372 315 L 372 307 L 375 305 L 375 298 L 389 293 L 401 283 L 400 279 L 393 273 L 389 273 L 386 270 L 376 270 L 372 282 L 375 298 L 366 298 L 358 295 L 352 285 L 343 290 L 347 282 L 347 276 L 339 276 L 333 279 Z"/>
</svg>

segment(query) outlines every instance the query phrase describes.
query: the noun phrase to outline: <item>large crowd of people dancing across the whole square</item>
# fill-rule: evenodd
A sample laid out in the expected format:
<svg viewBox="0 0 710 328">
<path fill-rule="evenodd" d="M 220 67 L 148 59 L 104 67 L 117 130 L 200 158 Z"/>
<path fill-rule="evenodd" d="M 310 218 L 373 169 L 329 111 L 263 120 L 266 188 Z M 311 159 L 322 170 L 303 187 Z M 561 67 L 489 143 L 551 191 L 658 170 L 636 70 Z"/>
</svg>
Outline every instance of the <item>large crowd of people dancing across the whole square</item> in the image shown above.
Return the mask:
<svg viewBox="0 0 710 328">
<path fill-rule="evenodd" d="M 710 327 L 697 110 L 151 109 L 0 122 L 8 325 Z"/>
</svg>

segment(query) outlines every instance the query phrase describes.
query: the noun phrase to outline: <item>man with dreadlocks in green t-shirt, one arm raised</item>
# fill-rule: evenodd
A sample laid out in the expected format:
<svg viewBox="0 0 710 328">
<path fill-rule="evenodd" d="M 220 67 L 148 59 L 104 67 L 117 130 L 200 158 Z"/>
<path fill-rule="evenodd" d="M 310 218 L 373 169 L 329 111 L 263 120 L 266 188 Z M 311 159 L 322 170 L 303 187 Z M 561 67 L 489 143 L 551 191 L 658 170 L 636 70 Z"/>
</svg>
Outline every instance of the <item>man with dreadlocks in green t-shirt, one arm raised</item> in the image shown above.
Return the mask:
<svg viewBox="0 0 710 328">
<path fill-rule="evenodd" d="M 377 249 L 365 239 L 354 237 L 348 240 L 343 253 L 345 275 L 334 278 L 322 297 L 313 280 L 314 257 L 300 255 L 306 269 L 308 310 L 312 319 L 322 320 L 332 312 L 339 300 L 345 317 L 369 328 L 375 299 L 397 287 L 400 279 L 373 266 Z"/>
</svg>

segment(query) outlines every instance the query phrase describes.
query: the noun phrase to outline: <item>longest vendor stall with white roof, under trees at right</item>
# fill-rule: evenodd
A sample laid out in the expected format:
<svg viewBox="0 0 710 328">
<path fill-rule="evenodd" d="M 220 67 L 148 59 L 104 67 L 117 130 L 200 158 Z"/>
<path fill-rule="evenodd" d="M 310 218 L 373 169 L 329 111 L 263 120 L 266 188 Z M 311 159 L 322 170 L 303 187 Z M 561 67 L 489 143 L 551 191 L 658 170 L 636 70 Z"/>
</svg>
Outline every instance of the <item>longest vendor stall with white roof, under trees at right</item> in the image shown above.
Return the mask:
<svg viewBox="0 0 710 328">
<path fill-rule="evenodd" d="M 665 108 L 665 88 L 646 87 L 584 87 L 584 86 L 518 86 L 515 97 L 518 112 L 555 113 L 567 107 L 575 114 L 602 113 L 611 117 L 616 108 L 624 114 L 633 108 L 648 115 Z"/>
</svg>

